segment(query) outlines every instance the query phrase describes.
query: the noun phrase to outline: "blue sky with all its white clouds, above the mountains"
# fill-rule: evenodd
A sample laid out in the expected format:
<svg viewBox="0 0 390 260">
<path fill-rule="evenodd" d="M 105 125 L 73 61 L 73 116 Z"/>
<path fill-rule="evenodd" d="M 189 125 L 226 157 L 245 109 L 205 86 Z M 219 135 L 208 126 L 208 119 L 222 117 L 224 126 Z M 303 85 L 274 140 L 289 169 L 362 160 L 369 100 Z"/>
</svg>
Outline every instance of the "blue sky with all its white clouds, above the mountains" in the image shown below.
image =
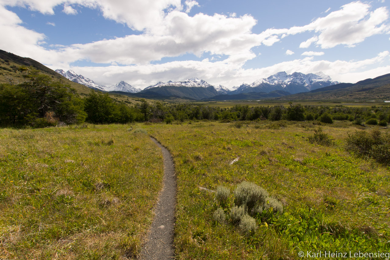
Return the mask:
<svg viewBox="0 0 390 260">
<path fill-rule="evenodd" d="M 279 71 L 354 83 L 390 73 L 389 24 L 385 0 L 0 0 L 0 49 L 108 86 Z"/>
</svg>

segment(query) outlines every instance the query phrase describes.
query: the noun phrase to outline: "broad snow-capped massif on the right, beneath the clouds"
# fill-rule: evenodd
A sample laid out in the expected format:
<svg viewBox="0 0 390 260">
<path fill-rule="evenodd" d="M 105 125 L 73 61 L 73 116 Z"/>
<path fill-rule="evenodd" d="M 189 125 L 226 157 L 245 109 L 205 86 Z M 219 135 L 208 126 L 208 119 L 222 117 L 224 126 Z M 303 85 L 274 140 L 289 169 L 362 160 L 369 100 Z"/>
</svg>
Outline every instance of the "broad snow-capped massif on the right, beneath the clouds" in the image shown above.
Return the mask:
<svg viewBox="0 0 390 260">
<path fill-rule="evenodd" d="M 294 72 L 291 75 L 285 71 L 278 72 L 268 78 L 256 80 L 252 84 L 242 84 L 238 89 L 229 94 L 250 93 L 250 92 L 265 92 L 269 93 L 275 90 L 287 91 L 295 94 L 300 92 L 307 92 L 321 87 L 338 84 L 322 72 L 316 74 L 303 74 Z"/>
</svg>

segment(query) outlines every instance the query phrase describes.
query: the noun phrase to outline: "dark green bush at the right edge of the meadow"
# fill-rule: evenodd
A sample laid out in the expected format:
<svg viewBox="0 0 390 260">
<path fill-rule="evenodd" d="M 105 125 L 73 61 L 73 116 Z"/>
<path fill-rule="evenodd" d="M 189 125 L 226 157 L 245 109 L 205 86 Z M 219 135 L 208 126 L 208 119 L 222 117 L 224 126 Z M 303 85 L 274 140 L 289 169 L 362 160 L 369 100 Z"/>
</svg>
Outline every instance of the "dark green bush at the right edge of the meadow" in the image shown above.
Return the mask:
<svg viewBox="0 0 390 260">
<path fill-rule="evenodd" d="M 371 134 L 366 131 L 348 134 L 346 150 L 360 156 L 375 159 L 379 163 L 390 164 L 390 134 L 381 134 L 373 130 Z"/>
</svg>

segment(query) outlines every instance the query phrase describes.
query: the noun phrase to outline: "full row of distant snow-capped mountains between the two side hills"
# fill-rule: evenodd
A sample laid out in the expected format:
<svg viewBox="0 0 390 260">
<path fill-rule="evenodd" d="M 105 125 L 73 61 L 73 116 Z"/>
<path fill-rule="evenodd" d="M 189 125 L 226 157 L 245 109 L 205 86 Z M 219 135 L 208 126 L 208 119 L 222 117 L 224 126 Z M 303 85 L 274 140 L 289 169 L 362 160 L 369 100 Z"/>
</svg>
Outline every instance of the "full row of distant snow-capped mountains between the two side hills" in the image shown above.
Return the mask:
<svg viewBox="0 0 390 260">
<path fill-rule="evenodd" d="M 127 93 L 141 93 L 143 96 L 178 96 L 191 99 L 210 99 L 215 97 L 215 100 L 231 100 L 240 97 L 249 97 L 250 95 L 238 95 L 242 93 L 260 93 L 252 95 L 254 98 L 261 97 L 277 97 L 300 92 L 307 92 L 321 87 L 338 84 L 339 82 L 332 81 L 332 79 L 322 72 L 313 74 L 303 74 L 294 72 L 291 75 L 285 71 L 278 72 L 268 78 L 256 80 L 252 84 L 242 84 L 239 87 L 234 87 L 234 90 L 229 90 L 222 85 L 213 86 L 206 81 L 199 78 L 188 78 L 183 81 L 168 81 L 158 82 L 154 85 L 146 87 L 144 90 L 136 89 L 130 84 L 121 81 L 111 87 L 104 85 L 97 85 L 89 78 L 76 74 L 72 70 L 64 71 L 57 69 L 57 73 L 68 78 L 73 82 L 78 82 L 92 89 L 101 91 L 119 91 Z M 278 91 L 278 92 L 275 92 Z M 268 95 L 268 93 L 273 93 Z M 222 95 L 222 96 L 221 96 Z M 225 96 L 225 95 L 231 95 Z"/>
</svg>

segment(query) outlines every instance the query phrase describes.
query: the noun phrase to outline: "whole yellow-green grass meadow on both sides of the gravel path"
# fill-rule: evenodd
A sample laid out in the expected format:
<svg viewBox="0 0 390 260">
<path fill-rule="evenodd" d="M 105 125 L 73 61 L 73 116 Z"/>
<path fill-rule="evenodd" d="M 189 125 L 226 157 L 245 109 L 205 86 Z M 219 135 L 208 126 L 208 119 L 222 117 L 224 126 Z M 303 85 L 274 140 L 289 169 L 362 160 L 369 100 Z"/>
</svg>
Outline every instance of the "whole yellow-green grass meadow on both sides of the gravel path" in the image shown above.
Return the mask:
<svg viewBox="0 0 390 260">
<path fill-rule="evenodd" d="M 134 258 L 163 174 L 161 152 L 149 135 L 175 162 L 177 259 L 389 252 L 389 167 L 345 150 L 347 134 L 363 128 L 323 124 L 332 138 L 323 146 L 308 141 L 317 127 L 198 121 L 2 129 L 0 258 Z M 243 181 L 266 189 L 284 207 L 282 214 L 256 217 L 249 235 L 229 221 L 232 193 Z M 225 205 L 213 192 L 221 185 L 230 190 Z M 213 214 L 221 206 L 226 221 L 217 223 Z"/>
</svg>

